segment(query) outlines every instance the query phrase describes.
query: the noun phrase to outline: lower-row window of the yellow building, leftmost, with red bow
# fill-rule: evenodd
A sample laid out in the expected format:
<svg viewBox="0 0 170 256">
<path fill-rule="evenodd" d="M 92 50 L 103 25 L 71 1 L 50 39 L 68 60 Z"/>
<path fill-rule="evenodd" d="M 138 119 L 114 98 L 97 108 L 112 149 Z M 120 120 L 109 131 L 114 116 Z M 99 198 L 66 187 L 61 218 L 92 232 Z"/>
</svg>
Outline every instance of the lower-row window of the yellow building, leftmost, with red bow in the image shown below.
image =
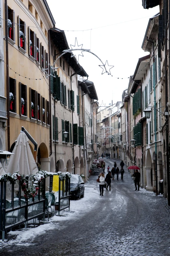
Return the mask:
<svg viewBox="0 0 170 256">
<path fill-rule="evenodd" d="M 9 77 L 9 111 L 17 112 L 16 103 L 16 79 Z"/>
</svg>

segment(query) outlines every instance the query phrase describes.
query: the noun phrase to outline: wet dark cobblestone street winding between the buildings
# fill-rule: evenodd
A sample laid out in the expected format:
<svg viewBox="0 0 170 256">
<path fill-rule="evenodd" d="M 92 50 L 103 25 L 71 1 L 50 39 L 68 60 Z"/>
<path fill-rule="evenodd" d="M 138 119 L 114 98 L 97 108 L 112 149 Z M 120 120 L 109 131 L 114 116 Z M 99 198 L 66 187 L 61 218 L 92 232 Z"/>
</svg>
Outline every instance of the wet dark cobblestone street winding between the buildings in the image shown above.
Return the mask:
<svg viewBox="0 0 170 256">
<path fill-rule="evenodd" d="M 106 168 L 112 167 L 114 161 L 106 160 Z M 120 161 L 116 162 L 120 166 Z M 167 200 L 145 189 L 135 191 L 131 175 L 127 168 L 124 170 L 124 179 L 119 176 L 119 180 L 112 180 L 111 191 L 104 189 L 104 196 L 99 195 L 97 176 L 91 176 L 85 186 L 85 197 L 71 201 L 70 211 L 72 204 L 86 202 L 77 216 L 71 219 L 57 217 L 63 220 L 54 222 L 53 230 L 37 236 L 28 247 L 3 245 L 0 255 L 170 255 Z"/>
</svg>

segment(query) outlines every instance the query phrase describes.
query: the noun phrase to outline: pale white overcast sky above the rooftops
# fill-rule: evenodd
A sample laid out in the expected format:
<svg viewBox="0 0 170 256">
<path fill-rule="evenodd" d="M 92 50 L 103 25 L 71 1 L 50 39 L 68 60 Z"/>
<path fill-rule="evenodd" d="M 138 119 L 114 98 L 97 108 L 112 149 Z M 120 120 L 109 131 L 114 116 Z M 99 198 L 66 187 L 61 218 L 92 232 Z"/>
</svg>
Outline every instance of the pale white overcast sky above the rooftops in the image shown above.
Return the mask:
<svg viewBox="0 0 170 256">
<path fill-rule="evenodd" d="M 106 73 L 101 75 L 100 60 L 87 52 L 83 53 L 84 57 L 79 57 L 80 65 L 95 85 L 99 103 L 103 100 L 107 106 L 112 99 L 113 103 L 121 101 L 122 92 L 128 87 L 127 77 L 134 74 L 138 59 L 148 54 L 141 49 L 141 45 L 149 17 L 159 12 L 159 6 L 143 9 L 141 0 L 47 2 L 55 26 L 65 30 L 69 45 L 74 45 L 77 37 L 78 44 L 83 43 L 83 48 L 91 49 L 104 63 L 108 60 L 108 65 L 114 65 L 110 70 L 113 77 Z M 68 31 L 86 29 L 92 30 Z"/>
</svg>

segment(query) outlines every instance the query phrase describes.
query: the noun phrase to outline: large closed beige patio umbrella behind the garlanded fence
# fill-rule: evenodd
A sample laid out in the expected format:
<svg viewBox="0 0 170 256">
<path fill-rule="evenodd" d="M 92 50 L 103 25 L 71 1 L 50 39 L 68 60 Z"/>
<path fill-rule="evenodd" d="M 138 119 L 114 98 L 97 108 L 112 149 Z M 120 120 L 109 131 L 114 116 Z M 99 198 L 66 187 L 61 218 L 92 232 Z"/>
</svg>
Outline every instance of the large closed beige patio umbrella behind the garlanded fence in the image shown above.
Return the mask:
<svg viewBox="0 0 170 256">
<path fill-rule="evenodd" d="M 14 173 L 18 171 L 25 176 L 35 174 L 38 171 L 38 168 L 29 146 L 28 137 L 21 131 L 16 141 L 12 151 L 15 155 L 10 156 L 6 173 Z"/>
</svg>

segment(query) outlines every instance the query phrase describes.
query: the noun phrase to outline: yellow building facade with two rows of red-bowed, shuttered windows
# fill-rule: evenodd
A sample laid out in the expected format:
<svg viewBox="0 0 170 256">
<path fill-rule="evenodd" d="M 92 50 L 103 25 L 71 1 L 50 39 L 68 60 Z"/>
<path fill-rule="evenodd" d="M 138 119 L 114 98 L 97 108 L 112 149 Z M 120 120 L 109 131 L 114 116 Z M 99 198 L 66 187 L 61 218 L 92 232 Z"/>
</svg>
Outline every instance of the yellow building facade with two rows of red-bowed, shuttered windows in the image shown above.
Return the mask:
<svg viewBox="0 0 170 256">
<path fill-rule="evenodd" d="M 12 151 L 23 126 L 38 144 L 36 160 L 38 167 L 49 171 L 49 79 L 46 78 L 43 69 L 48 68 L 48 31 L 54 26 L 55 21 L 44 2 L 46 1 L 23 0 L 18 3 L 9 0 L 7 2 L 8 20 L 10 20 L 8 24 L 9 92 L 13 95 L 10 98 L 10 150 Z M 3 9 L 5 9 L 4 3 Z M 5 16 L 4 12 L 3 15 Z M 4 23 L 3 26 L 5 27 Z M 34 152 L 31 143 L 30 147 Z"/>
</svg>

